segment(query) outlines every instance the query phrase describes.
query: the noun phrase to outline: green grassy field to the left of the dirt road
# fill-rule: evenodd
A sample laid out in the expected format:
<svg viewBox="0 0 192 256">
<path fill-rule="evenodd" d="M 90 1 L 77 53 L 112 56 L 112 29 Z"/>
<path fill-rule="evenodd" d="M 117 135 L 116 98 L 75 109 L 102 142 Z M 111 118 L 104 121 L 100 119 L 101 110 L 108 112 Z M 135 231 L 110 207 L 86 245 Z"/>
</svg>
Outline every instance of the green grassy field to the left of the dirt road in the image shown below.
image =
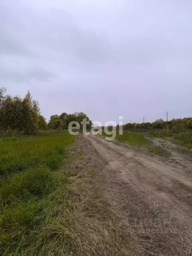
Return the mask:
<svg viewBox="0 0 192 256">
<path fill-rule="evenodd" d="M 28 251 L 31 246 L 57 236 L 46 227 L 69 181 L 67 170 L 55 170 L 74 136 L 45 135 L 0 139 L 0 255 L 36 255 Z"/>
</svg>

